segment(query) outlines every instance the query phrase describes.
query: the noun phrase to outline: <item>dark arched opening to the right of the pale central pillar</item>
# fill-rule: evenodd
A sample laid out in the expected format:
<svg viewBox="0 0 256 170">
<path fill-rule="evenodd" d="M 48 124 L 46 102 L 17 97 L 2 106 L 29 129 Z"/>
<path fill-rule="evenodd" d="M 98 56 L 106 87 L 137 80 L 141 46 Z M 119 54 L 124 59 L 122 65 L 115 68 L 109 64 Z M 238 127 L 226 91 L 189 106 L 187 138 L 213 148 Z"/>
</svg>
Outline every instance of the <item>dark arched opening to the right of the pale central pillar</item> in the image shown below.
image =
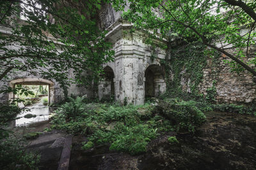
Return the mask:
<svg viewBox="0 0 256 170">
<path fill-rule="evenodd" d="M 159 65 L 150 65 L 145 70 L 145 99 L 158 97 L 166 90 L 163 69 Z"/>
</svg>

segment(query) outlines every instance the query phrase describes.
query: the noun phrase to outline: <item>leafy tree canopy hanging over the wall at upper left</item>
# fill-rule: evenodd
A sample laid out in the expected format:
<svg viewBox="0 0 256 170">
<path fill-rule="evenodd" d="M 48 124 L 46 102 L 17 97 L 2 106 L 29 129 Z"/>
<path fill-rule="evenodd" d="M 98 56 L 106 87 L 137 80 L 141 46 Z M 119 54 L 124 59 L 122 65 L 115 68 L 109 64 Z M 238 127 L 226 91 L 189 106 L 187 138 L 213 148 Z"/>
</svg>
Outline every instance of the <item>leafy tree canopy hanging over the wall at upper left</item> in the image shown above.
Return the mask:
<svg viewBox="0 0 256 170">
<path fill-rule="evenodd" d="M 67 85 L 67 72 L 90 81 L 100 64 L 113 60 L 105 31 L 97 27 L 97 11 L 105 1 L 1 1 L 0 80 L 10 71 L 27 71 Z M 83 79 L 84 72 L 91 79 Z M 83 82 L 84 83 L 84 82 Z"/>
</svg>

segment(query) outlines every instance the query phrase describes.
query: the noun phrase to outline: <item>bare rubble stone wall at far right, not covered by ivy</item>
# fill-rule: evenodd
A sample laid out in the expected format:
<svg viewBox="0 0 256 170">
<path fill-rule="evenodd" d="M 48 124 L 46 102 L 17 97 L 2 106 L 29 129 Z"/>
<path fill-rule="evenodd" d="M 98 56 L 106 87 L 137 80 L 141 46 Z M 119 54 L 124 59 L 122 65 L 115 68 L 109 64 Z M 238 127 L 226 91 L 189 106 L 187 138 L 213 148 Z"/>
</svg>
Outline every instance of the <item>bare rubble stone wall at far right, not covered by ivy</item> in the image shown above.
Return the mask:
<svg viewBox="0 0 256 170">
<path fill-rule="evenodd" d="M 231 50 L 231 49 L 230 49 Z M 200 83 L 200 93 L 207 95 L 206 90 L 212 87 L 212 81 L 216 81 L 216 100 L 218 103 L 252 103 L 256 102 L 256 83 L 252 74 L 242 71 L 237 74 L 231 71 L 230 66 L 223 60 L 230 60 L 222 55 L 218 66 L 212 67 L 212 59 L 207 60 L 204 69 L 204 78 Z"/>
</svg>

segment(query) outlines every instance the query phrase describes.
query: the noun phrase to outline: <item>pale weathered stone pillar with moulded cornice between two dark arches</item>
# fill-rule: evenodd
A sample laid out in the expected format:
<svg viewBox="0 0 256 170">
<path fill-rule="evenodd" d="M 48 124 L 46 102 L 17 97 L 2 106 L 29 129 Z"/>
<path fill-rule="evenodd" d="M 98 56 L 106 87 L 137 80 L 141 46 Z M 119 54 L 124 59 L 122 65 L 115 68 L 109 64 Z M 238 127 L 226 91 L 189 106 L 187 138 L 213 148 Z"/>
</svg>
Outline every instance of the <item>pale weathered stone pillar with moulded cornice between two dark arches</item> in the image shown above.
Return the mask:
<svg viewBox="0 0 256 170">
<path fill-rule="evenodd" d="M 147 34 L 143 31 L 131 31 L 132 25 L 124 20 L 116 20 L 108 29 L 106 36 L 108 41 L 113 43 L 115 50 L 115 61 L 109 62 L 104 67 L 110 67 L 113 71 L 113 80 L 106 80 L 99 84 L 99 97 L 111 94 L 115 90 L 115 101 L 133 104 L 143 104 L 145 96 L 147 68 L 152 69 L 150 76 L 153 78 L 151 88 L 154 96 L 158 96 L 166 89 L 163 69 L 160 66 L 160 59 L 164 59 L 166 52 L 161 48 L 156 49 L 156 59 L 150 59 L 152 48 L 145 43 Z M 155 39 L 156 45 L 166 43 Z M 113 83 L 111 83 L 113 81 Z M 113 84 L 114 87 L 110 87 Z M 103 88 L 105 87 L 105 88 Z"/>
</svg>

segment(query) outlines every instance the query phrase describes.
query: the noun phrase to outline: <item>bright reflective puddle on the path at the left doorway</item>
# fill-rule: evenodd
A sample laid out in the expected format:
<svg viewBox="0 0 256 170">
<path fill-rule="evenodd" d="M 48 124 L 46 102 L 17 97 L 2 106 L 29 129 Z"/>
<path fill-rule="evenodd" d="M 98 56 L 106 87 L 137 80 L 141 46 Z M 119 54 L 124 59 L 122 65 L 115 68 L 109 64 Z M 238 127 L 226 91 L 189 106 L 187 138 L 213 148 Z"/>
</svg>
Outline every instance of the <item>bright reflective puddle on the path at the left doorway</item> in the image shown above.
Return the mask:
<svg viewBox="0 0 256 170">
<path fill-rule="evenodd" d="M 30 109 L 29 111 L 24 111 L 19 115 L 17 115 L 17 117 L 21 117 L 21 118 L 15 120 L 16 127 L 27 126 L 32 123 L 49 120 L 49 116 L 50 116 L 49 106 L 44 106 L 43 104 L 36 103 L 35 105 L 29 106 L 28 108 Z M 36 115 L 36 117 L 24 118 L 24 116 L 27 114 Z"/>
</svg>

